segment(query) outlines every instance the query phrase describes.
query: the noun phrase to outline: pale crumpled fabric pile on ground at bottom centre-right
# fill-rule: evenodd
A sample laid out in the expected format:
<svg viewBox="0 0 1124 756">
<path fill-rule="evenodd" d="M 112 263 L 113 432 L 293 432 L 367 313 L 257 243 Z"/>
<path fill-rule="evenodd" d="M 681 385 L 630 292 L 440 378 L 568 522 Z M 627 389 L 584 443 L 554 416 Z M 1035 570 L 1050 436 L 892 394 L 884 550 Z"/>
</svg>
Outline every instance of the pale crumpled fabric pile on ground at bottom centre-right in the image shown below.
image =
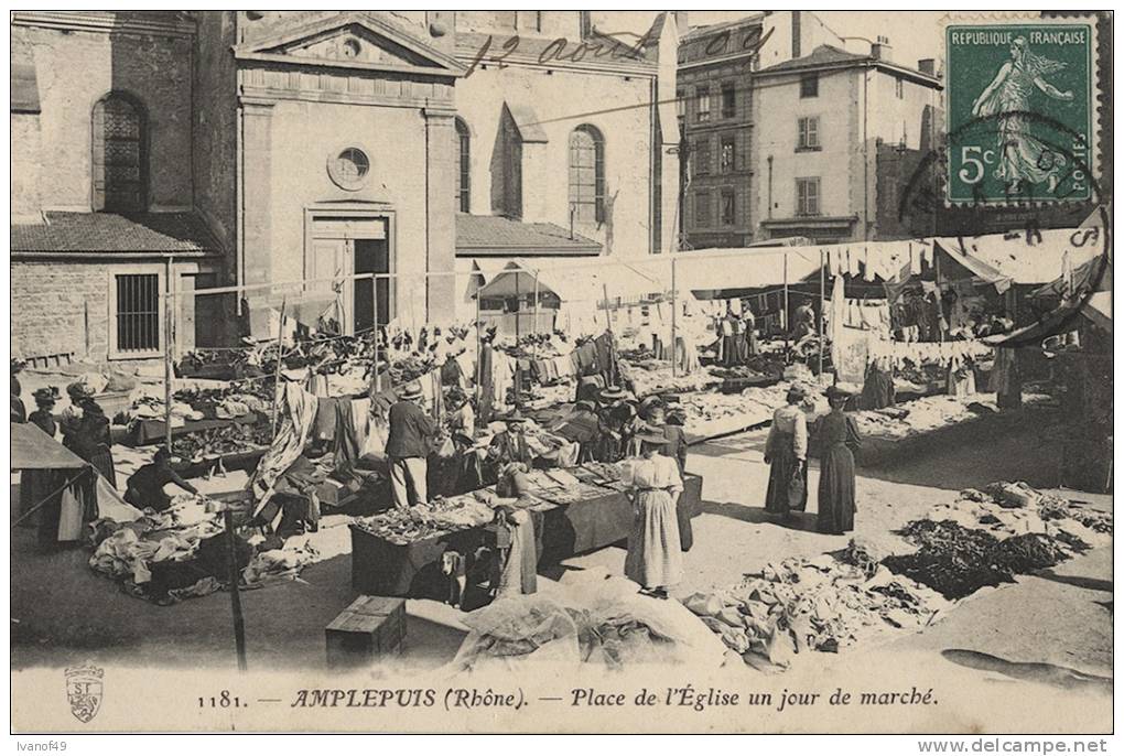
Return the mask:
<svg viewBox="0 0 1124 756">
<path fill-rule="evenodd" d="M 685 602 L 742 659 L 762 670 L 787 667 L 794 654 L 839 652 L 892 628 L 931 622 L 948 604 L 934 591 L 871 573 L 831 555 L 770 563 L 735 589 L 695 593 Z"/>
</svg>

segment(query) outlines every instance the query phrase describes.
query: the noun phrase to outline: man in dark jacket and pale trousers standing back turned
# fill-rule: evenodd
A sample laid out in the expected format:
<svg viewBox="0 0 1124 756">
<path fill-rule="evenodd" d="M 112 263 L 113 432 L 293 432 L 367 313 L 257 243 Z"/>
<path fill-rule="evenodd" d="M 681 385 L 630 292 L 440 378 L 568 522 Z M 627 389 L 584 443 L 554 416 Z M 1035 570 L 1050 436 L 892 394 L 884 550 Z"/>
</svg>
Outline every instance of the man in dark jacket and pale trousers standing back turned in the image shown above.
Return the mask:
<svg viewBox="0 0 1124 756">
<path fill-rule="evenodd" d="M 422 384 L 411 381 L 398 392 L 398 401 L 390 408 L 387 458 L 395 507 L 399 509 L 427 501 L 426 458 L 435 428 L 420 402 Z"/>
</svg>

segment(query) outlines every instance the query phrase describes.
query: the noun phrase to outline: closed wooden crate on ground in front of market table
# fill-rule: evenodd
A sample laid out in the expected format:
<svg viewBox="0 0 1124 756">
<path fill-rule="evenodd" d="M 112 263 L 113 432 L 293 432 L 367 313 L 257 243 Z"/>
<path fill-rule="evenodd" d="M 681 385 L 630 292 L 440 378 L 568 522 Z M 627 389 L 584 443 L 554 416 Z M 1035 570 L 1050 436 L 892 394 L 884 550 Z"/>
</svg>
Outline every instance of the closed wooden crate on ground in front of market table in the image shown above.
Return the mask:
<svg viewBox="0 0 1124 756">
<path fill-rule="evenodd" d="M 324 629 L 329 667 L 369 666 L 401 652 L 406 601 L 361 595 Z"/>
</svg>

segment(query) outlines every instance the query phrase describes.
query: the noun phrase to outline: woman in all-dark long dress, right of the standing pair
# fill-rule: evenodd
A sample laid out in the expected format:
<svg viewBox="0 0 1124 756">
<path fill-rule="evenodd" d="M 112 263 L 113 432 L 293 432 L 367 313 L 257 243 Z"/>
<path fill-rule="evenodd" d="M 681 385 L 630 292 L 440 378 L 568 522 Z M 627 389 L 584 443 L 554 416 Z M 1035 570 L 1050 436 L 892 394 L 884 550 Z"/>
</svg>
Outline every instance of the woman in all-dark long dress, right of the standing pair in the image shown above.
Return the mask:
<svg viewBox="0 0 1124 756">
<path fill-rule="evenodd" d="M 819 501 L 817 527 L 821 532 L 841 536 L 854 530 L 854 454 L 859 430 L 845 412 L 847 393 L 831 386 L 824 392 L 832 411 L 819 419 Z"/>
</svg>

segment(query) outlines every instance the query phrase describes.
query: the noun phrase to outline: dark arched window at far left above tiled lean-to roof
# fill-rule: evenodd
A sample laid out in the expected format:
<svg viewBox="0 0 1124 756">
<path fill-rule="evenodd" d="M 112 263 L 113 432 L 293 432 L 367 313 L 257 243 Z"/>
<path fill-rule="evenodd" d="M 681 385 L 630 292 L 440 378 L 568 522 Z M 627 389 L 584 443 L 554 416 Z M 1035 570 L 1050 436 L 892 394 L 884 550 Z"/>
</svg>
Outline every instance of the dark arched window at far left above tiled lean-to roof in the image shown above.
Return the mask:
<svg viewBox="0 0 1124 756">
<path fill-rule="evenodd" d="M 145 119 L 139 103 L 110 92 L 93 106 L 93 209 L 145 209 Z"/>
</svg>

